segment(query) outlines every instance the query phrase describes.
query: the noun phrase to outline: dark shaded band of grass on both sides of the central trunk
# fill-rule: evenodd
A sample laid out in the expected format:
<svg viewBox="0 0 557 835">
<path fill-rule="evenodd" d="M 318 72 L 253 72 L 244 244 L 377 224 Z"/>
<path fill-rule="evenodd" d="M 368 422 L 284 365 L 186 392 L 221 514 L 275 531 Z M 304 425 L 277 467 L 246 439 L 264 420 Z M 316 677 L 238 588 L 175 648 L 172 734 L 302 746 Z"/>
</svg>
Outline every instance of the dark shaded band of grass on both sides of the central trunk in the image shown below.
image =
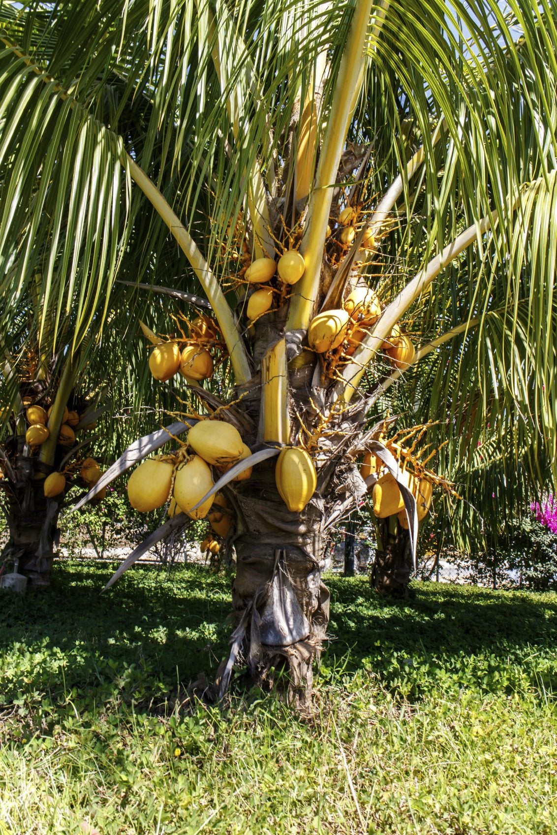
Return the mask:
<svg viewBox="0 0 557 835">
<path fill-rule="evenodd" d="M 229 647 L 230 576 L 135 566 L 100 595 L 115 567 L 64 561 L 43 594 L 1 600 L 0 709 L 18 694 L 63 701 L 68 691 L 82 707 L 149 704 L 201 671 L 215 676 Z M 331 640 L 317 681 L 342 669 L 409 697 L 557 692 L 557 595 L 417 583 L 415 600 L 393 604 L 366 577 L 326 582 Z"/>
</svg>

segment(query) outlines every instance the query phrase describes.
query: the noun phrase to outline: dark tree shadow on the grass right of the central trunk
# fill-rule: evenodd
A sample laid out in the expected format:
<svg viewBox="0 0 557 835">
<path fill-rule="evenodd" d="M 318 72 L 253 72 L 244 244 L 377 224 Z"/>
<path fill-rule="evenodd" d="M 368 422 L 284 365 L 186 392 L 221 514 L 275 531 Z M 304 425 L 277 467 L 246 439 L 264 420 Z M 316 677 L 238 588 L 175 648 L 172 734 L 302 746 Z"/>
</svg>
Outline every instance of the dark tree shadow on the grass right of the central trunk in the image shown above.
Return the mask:
<svg viewBox="0 0 557 835">
<path fill-rule="evenodd" d="M 557 595 L 415 583 L 393 602 L 367 577 L 329 575 L 329 668 L 365 670 L 404 696 L 439 686 L 557 693 Z"/>
</svg>

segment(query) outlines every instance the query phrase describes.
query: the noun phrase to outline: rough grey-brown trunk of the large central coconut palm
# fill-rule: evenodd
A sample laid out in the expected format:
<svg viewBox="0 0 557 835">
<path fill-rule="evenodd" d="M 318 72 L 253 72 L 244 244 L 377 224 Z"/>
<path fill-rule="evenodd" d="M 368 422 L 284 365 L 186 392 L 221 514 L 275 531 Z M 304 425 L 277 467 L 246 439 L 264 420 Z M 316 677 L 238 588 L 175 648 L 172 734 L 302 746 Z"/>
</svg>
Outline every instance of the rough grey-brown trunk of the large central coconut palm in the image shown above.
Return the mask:
<svg viewBox="0 0 557 835">
<path fill-rule="evenodd" d="M 220 690 L 225 691 L 239 659 L 261 686 L 273 685 L 273 671 L 288 669 L 289 700 L 307 706 L 312 662 L 321 653 L 329 620 L 329 592 L 321 579 L 322 510 L 310 503 L 303 514 L 287 511 L 276 490 L 273 463 L 261 468 L 257 481 L 239 485 L 235 498 L 244 528 L 235 539 L 232 587 L 238 625 Z"/>
</svg>

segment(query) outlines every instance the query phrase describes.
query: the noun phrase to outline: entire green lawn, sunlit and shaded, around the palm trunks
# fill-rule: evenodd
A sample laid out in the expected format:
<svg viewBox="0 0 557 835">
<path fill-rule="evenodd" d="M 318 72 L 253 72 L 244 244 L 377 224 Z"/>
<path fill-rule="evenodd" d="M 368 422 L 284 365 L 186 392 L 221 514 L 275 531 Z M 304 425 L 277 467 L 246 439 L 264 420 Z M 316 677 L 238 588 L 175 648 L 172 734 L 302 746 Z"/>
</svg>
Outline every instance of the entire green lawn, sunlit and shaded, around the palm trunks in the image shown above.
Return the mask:
<svg viewBox="0 0 557 835">
<path fill-rule="evenodd" d="M 552 833 L 557 595 L 329 577 L 316 714 L 215 673 L 230 579 L 59 563 L 0 600 L 0 833 Z"/>
</svg>

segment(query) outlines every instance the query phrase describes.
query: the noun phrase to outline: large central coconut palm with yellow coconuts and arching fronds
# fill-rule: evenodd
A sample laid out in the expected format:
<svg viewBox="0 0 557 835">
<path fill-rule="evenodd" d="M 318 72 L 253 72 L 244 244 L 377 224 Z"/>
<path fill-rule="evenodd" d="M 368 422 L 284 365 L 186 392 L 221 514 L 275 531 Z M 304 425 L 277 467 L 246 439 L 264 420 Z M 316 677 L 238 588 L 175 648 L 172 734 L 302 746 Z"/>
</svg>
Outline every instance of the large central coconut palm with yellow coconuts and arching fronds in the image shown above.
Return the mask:
<svg viewBox="0 0 557 835">
<path fill-rule="evenodd" d="M 65 194 L 66 241 L 82 230 L 89 257 L 105 238 L 88 221 L 108 238 L 119 228 L 139 283 L 150 270 L 158 289 L 191 291 L 195 276 L 215 322 L 144 333 L 166 343 L 154 366 L 182 351 L 177 393 L 190 385 L 200 403 L 173 435 L 217 418 L 213 438 L 229 437 L 225 423 L 255 452 L 224 476 L 214 467 L 210 495 L 205 479 L 195 503 L 178 501 L 193 516 L 219 490 L 228 503 L 238 621 L 221 687 L 238 657 L 259 680 L 286 663 L 303 701 L 327 630 L 327 530 L 369 487 L 382 479 L 382 516 L 406 509 L 414 544 L 420 484 L 449 490 L 445 463 L 466 461 L 488 424 L 511 433 L 515 455 L 555 460 L 554 8 L 74 0 L 4 3 L 2 15 L 13 286 L 38 259 L 41 219 L 39 242 L 58 257 Z M 42 153 L 43 189 L 29 149 Z M 98 173 L 110 211 L 97 211 Z M 161 278 L 169 240 L 185 279 Z M 207 348 L 225 370 L 220 395 L 201 382 Z M 420 396 L 423 367 L 432 385 Z M 394 387 L 408 392 L 396 427 Z M 190 465 L 191 431 L 169 490 Z M 161 430 L 142 440 L 107 478 L 165 440 Z M 386 475 L 364 481 L 366 452 Z M 231 480 L 247 465 L 251 478 Z"/>
</svg>

